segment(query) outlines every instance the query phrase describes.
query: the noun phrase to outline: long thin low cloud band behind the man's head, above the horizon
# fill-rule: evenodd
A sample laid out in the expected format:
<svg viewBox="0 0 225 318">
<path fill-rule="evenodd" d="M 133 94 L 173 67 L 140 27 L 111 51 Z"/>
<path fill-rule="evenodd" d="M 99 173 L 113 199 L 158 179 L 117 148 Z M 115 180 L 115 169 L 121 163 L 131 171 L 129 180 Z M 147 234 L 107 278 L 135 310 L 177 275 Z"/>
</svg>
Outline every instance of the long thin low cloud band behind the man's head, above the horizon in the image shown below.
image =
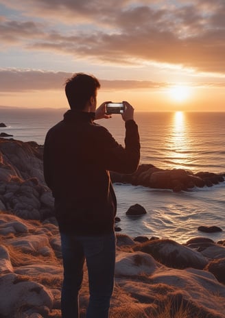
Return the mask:
<svg viewBox="0 0 225 318">
<path fill-rule="evenodd" d="M 64 83 L 72 73 L 50 72 L 38 70 L 0 69 L 0 87 L 3 93 L 25 93 L 28 91 L 64 90 Z M 107 80 L 99 79 L 101 90 L 140 90 L 168 88 L 173 83 L 135 81 L 135 80 Z M 191 86 L 225 87 L 225 82 L 192 83 Z"/>
</svg>

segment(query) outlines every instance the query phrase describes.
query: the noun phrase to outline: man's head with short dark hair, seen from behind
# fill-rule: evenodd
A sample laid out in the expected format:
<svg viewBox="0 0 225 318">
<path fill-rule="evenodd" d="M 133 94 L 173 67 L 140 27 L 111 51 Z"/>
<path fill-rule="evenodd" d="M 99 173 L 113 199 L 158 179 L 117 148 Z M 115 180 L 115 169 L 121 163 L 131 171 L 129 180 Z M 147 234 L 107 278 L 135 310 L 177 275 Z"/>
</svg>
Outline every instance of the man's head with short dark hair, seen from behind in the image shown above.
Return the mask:
<svg viewBox="0 0 225 318">
<path fill-rule="evenodd" d="M 96 97 L 99 81 L 93 75 L 76 73 L 67 79 L 65 92 L 71 109 L 83 110 L 91 97 Z"/>
</svg>

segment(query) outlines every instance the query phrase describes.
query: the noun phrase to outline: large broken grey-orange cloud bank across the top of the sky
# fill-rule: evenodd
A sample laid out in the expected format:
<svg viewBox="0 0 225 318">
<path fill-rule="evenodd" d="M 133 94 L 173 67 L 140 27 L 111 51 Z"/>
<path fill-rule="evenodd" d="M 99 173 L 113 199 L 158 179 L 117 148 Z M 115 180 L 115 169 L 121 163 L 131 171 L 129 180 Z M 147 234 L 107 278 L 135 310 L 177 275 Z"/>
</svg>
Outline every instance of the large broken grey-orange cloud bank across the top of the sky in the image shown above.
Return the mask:
<svg viewBox="0 0 225 318">
<path fill-rule="evenodd" d="M 28 19 L 1 22 L 1 38 L 10 45 L 20 41 L 26 50 L 95 62 L 158 62 L 225 73 L 222 0 L 2 2 Z M 43 25 L 35 19 L 43 19 Z"/>
</svg>

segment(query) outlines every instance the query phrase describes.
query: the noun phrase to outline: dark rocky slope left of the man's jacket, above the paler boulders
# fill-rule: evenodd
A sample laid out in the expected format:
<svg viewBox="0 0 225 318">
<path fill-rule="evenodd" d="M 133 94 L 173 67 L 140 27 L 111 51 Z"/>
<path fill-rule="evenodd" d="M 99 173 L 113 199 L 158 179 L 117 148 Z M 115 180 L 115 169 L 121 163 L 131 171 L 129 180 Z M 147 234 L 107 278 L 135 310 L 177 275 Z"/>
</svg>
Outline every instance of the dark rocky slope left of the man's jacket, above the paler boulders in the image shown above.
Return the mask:
<svg viewBox="0 0 225 318">
<path fill-rule="evenodd" d="M 43 220 L 51 216 L 53 204 L 43 177 L 43 147 L 0 138 L 0 209 Z"/>
</svg>

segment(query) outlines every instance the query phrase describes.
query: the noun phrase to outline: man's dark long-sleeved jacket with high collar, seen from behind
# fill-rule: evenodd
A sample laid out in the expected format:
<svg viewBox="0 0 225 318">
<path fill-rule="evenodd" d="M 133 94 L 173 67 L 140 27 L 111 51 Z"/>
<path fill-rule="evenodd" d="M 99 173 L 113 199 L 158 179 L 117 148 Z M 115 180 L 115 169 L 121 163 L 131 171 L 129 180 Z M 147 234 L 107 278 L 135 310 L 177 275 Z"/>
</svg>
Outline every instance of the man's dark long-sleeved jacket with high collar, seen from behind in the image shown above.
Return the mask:
<svg viewBox="0 0 225 318">
<path fill-rule="evenodd" d="M 126 121 L 123 148 L 94 119 L 95 113 L 68 110 L 45 138 L 45 182 L 61 232 L 113 232 L 117 201 L 109 171 L 132 173 L 139 164 L 137 124 Z"/>
</svg>

